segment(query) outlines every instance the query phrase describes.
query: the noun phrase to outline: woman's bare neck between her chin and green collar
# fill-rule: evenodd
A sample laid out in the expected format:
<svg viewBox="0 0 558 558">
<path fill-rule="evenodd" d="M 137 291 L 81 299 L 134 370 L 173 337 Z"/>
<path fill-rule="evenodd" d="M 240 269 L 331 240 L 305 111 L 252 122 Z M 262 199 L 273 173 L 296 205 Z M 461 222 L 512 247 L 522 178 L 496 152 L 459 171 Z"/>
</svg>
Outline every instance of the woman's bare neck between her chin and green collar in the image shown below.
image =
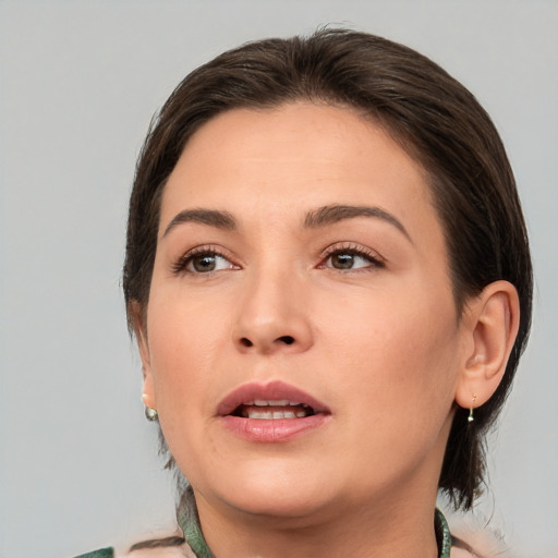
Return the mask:
<svg viewBox="0 0 558 558">
<path fill-rule="evenodd" d="M 281 518 L 220 513 L 198 498 L 204 536 L 215 556 L 228 558 L 435 558 L 434 507 L 367 502 Z"/>
</svg>

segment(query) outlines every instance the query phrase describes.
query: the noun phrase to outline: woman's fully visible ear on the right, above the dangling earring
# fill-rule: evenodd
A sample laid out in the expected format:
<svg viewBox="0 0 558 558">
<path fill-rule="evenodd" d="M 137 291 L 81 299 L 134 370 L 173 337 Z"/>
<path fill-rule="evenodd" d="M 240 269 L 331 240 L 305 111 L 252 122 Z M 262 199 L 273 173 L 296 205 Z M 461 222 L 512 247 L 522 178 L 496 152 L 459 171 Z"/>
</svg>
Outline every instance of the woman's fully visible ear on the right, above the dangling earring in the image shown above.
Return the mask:
<svg viewBox="0 0 558 558">
<path fill-rule="evenodd" d="M 495 281 L 464 314 L 468 342 L 456 402 L 469 409 L 488 401 L 504 377 L 519 328 L 518 291 L 508 281 Z"/>
</svg>

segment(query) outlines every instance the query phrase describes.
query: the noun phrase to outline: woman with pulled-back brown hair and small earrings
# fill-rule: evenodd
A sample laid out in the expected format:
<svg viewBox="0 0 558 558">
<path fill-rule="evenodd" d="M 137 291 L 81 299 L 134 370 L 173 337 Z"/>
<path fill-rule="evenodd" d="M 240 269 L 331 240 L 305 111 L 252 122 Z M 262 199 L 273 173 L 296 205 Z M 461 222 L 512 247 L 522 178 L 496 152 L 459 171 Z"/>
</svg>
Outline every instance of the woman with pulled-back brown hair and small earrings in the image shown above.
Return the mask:
<svg viewBox="0 0 558 558">
<path fill-rule="evenodd" d="M 480 492 L 532 270 L 498 134 L 432 61 L 338 29 L 190 74 L 140 157 L 124 293 L 190 483 L 185 542 L 132 556 L 475 555 L 436 495 Z"/>
</svg>

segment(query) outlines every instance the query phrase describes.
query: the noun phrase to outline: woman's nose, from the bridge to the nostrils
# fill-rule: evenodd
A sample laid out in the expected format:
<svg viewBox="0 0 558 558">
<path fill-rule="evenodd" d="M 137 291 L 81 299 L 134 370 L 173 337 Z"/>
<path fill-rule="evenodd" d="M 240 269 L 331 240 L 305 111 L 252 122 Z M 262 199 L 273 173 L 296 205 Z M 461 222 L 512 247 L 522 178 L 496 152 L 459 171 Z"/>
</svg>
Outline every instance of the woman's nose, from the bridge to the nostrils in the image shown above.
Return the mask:
<svg viewBox="0 0 558 558">
<path fill-rule="evenodd" d="M 244 284 L 233 342 L 243 353 L 307 351 L 314 343 L 304 279 L 292 274 L 258 274 Z"/>
</svg>

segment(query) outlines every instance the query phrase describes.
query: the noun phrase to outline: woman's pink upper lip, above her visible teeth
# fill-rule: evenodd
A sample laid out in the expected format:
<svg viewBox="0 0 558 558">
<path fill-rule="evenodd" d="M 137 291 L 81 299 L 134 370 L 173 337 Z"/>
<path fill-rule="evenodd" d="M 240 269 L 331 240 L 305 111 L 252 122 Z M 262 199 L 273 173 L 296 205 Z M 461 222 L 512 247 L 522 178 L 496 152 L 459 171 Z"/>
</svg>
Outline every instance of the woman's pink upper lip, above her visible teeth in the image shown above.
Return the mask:
<svg viewBox="0 0 558 558">
<path fill-rule="evenodd" d="M 314 413 L 329 413 L 325 403 L 306 393 L 302 389 L 280 380 L 265 384 L 251 381 L 243 384 L 227 395 L 217 407 L 217 414 L 226 416 L 231 414 L 242 404 L 252 403 L 255 400 L 281 401 L 300 403 L 312 408 Z"/>
</svg>

